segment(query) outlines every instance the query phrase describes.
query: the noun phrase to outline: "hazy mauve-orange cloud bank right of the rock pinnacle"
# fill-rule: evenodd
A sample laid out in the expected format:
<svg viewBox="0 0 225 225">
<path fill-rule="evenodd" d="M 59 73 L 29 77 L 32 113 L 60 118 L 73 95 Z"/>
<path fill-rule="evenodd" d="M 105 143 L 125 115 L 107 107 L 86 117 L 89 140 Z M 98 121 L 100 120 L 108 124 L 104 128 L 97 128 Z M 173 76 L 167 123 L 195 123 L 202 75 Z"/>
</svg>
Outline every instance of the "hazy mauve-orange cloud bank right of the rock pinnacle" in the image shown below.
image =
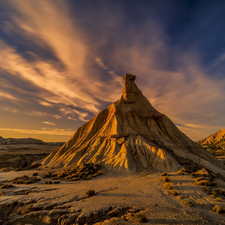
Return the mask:
<svg viewBox="0 0 225 225">
<path fill-rule="evenodd" d="M 195 131 L 190 126 L 181 128 L 191 138 L 198 140 L 222 129 L 225 79 L 209 76 L 193 49 L 188 52 L 171 49 L 160 26 L 146 24 L 143 30 L 151 39 L 148 45 L 141 41 L 144 31 L 141 35 L 135 30 L 127 33 L 133 44 L 128 47 L 121 42 L 114 48 L 111 67 L 137 75 L 136 83 L 143 94 L 174 123 L 196 124 Z M 173 53 L 169 56 L 171 68 L 165 57 L 168 52 Z"/>
</svg>

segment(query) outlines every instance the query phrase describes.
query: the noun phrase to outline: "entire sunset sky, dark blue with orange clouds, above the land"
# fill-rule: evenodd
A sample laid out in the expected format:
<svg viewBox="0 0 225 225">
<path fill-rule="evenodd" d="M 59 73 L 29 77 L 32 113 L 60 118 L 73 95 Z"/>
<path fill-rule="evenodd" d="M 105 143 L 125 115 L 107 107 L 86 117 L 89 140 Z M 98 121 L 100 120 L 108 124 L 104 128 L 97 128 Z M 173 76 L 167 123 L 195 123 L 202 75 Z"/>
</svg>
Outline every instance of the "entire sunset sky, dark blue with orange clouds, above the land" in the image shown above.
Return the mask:
<svg viewBox="0 0 225 225">
<path fill-rule="evenodd" d="M 0 1 L 0 136 L 67 141 L 125 73 L 192 140 L 224 129 L 224 0 Z"/>
</svg>

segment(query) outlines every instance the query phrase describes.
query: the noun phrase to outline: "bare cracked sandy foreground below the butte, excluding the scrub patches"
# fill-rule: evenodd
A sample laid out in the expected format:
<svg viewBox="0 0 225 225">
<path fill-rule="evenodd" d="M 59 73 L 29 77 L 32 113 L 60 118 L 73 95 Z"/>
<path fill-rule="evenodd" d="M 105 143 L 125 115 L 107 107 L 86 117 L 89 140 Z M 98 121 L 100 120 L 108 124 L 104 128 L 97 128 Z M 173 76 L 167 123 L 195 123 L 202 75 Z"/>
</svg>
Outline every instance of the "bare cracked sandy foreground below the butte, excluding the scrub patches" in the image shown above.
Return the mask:
<svg viewBox="0 0 225 225">
<path fill-rule="evenodd" d="M 33 172 L 36 171 L 0 172 L 0 182 Z M 35 210 L 25 215 L 10 214 L 0 223 L 67 224 L 65 221 L 74 217 L 68 224 L 137 224 L 132 215 L 141 211 L 147 216 L 146 224 L 225 224 L 225 216 L 211 211 L 214 205 L 225 206 L 225 200 L 216 202 L 210 198 L 194 184 L 191 175 L 170 173 L 178 196 L 163 188 L 160 177 L 159 173 L 147 172 L 129 176 L 103 174 L 86 181 L 62 180 L 47 185 L 44 182 L 50 179 L 46 178 L 34 184 L 17 184 L 16 188 L 2 189 L 0 207 L 19 202 Z M 220 188 L 224 188 L 222 183 Z M 86 197 L 89 189 L 96 195 Z M 23 194 L 28 190 L 28 194 Z M 193 201 L 193 207 L 182 204 L 186 198 Z M 60 223 L 62 217 L 65 220 Z"/>
</svg>

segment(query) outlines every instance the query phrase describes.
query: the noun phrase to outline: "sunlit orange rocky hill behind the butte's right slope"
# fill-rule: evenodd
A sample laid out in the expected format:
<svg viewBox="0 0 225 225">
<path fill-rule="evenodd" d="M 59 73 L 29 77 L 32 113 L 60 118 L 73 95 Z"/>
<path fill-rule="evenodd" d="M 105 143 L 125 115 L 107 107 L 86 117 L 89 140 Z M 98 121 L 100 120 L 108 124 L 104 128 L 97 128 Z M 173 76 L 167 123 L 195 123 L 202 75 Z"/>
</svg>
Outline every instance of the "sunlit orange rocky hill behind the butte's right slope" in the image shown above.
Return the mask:
<svg viewBox="0 0 225 225">
<path fill-rule="evenodd" d="M 200 141 L 199 144 L 205 147 L 223 148 L 225 147 L 225 129 L 222 129 Z"/>
</svg>

